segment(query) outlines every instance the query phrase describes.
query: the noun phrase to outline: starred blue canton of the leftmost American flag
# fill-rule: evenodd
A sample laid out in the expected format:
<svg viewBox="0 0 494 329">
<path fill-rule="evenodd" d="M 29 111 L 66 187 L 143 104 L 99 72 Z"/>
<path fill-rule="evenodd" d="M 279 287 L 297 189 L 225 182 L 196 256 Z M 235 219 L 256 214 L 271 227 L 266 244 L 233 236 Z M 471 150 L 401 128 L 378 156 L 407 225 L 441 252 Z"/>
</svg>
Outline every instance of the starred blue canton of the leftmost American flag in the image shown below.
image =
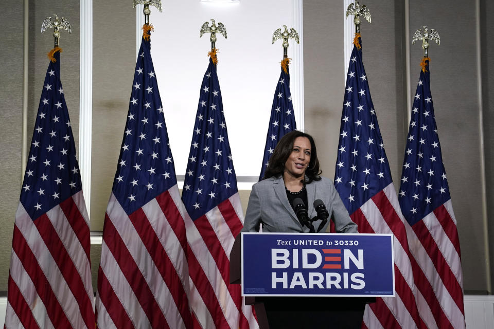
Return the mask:
<svg viewBox="0 0 494 329">
<path fill-rule="evenodd" d="M 76 146 L 60 82 L 60 52 L 50 62 L 21 190 L 21 203 L 35 220 L 82 189 Z"/>
</svg>

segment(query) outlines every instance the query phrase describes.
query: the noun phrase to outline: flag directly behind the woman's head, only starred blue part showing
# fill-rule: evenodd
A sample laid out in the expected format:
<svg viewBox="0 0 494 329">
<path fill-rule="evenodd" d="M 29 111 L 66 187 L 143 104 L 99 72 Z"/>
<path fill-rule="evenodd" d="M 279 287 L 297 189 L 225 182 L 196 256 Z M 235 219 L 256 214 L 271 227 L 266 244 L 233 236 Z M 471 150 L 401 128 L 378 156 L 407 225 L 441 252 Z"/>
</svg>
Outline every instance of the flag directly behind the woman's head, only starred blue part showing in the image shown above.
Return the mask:
<svg viewBox="0 0 494 329">
<path fill-rule="evenodd" d="M 259 180 L 264 177 L 264 171 L 268 166 L 269 158 L 273 153 L 278 140 L 286 133 L 297 129 L 295 114 L 293 113 L 292 96 L 290 93 L 290 71 L 281 68 L 279 81 L 274 92 L 273 106 L 271 106 L 271 117 L 269 118 L 268 135 L 266 136 L 266 147 L 262 158 L 261 174 Z"/>
</svg>

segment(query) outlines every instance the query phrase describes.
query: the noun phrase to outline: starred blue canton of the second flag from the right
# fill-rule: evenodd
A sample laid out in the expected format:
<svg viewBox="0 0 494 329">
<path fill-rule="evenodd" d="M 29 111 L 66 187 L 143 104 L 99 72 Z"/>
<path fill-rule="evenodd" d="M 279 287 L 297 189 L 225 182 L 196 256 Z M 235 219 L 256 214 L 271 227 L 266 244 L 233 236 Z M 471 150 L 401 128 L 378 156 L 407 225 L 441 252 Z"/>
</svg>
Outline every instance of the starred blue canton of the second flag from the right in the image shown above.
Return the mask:
<svg viewBox="0 0 494 329">
<path fill-rule="evenodd" d="M 356 46 L 351 52 L 343 102 L 334 185 L 352 214 L 392 182 L 362 62 L 362 48 Z"/>
</svg>

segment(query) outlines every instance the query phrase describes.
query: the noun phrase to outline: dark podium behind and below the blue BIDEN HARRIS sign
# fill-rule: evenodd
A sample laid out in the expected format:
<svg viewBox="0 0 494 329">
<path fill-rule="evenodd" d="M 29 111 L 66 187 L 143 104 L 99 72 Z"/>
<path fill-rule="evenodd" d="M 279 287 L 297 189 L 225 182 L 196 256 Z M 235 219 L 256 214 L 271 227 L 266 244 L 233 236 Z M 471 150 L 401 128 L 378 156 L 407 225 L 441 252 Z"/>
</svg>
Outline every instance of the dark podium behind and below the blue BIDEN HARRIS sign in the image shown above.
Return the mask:
<svg viewBox="0 0 494 329">
<path fill-rule="evenodd" d="M 230 253 L 230 283 L 242 283 L 242 237 L 239 234 Z M 248 233 L 253 234 L 253 233 Z M 254 233 L 272 234 L 272 233 Z M 280 233 L 287 234 L 287 233 Z M 273 239 L 277 239 L 275 234 Z M 292 236 L 303 237 L 304 233 Z M 319 234 L 315 234 L 318 236 Z M 327 235 L 327 234 L 325 234 Z M 342 235 L 342 234 L 340 234 Z M 346 234 L 345 234 L 346 235 Z M 314 234 L 311 234 L 314 236 Z M 294 238 L 295 239 L 295 238 Z M 300 239 L 299 239 L 300 240 Z M 280 241 L 280 240 L 278 240 Z M 340 240 L 341 241 L 341 240 Z M 391 239 L 390 239 L 391 241 Z M 279 242 L 278 242 L 279 243 Z M 392 242 L 390 242 L 392 244 Z M 293 246 L 291 246 L 293 247 Z M 334 246 L 332 246 L 334 247 Z M 327 248 L 327 247 L 326 247 Z M 389 250 L 391 268 L 393 268 L 392 246 Z M 327 250 L 327 249 L 322 249 Z M 334 250 L 334 249 L 331 249 Z M 265 253 L 268 253 L 266 250 Z M 393 269 L 391 269 L 392 271 Z M 387 295 L 367 291 L 367 295 L 357 296 L 268 296 L 267 294 L 243 294 L 245 304 L 253 305 L 256 311 L 260 329 L 276 328 L 361 328 L 365 305 L 376 301 L 376 297 L 394 296 L 394 275 L 392 280 L 392 294 Z M 365 294 L 364 294 L 365 295 Z"/>
</svg>

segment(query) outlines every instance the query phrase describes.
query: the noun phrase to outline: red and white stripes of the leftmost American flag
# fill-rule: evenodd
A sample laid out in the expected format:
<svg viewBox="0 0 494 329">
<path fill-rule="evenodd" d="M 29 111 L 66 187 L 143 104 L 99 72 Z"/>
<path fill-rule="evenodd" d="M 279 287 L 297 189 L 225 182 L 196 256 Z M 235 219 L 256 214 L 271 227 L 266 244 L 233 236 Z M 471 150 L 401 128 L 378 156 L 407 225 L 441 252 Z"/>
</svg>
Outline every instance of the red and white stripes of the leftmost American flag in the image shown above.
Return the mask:
<svg viewBox="0 0 494 329">
<path fill-rule="evenodd" d="M 82 191 L 34 221 L 19 203 L 6 328 L 94 328 L 90 231 Z"/>
</svg>

